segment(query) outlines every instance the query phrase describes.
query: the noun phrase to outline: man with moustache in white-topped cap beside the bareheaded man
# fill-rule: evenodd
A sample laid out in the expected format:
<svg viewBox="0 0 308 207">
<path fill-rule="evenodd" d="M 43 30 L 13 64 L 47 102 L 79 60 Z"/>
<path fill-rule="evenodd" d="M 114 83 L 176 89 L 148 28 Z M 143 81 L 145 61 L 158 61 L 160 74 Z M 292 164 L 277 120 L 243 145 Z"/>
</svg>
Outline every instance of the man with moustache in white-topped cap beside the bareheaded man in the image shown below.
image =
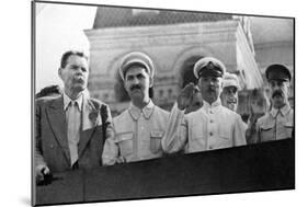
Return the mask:
<svg viewBox="0 0 308 207">
<path fill-rule="evenodd" d="M 105 142 L 103 164 L 159 158 L 163 153 L 161 138 L 169 113 L 149 97 L 149 89 L 153 85 L 153 64 L 146 54 L 133 51 L 123 58 L 119 74 L 132 102 L 113 120 L 114 136 Z"/>
</svg>

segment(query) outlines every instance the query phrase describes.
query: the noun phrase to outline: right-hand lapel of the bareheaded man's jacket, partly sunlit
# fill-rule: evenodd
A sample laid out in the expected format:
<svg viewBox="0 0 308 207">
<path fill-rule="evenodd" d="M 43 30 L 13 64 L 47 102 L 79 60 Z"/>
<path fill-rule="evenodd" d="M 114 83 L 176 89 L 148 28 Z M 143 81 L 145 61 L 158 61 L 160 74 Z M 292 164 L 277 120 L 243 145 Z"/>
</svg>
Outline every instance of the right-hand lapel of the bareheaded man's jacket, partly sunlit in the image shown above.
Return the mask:
<svg viewBox="0 0 308 207">
<path fill-rule="evenodd" d="M 96 126 L 102 124 L 99 105 L 94 104 L 89 97 L 83 100 L 82 106 L 82 129 L 78 145 L 79 158 L 81 158 L 88 142 L 95 134 Z"/>
</svg>

